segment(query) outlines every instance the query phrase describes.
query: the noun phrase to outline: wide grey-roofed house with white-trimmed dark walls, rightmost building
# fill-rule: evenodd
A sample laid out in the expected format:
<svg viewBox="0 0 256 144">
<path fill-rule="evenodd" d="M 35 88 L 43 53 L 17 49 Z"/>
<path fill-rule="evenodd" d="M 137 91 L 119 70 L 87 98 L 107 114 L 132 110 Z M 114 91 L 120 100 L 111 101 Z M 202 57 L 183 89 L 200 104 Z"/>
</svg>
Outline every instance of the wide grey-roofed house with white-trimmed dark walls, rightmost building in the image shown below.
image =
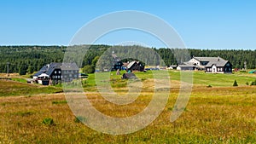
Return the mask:
<svg viewBox="0 0 256 144">
<path fill-rule="evenodd" d="M 193 57 L 177 67 L 179 70 L 205 70 L 206 73 L 232 73 L 232 64 L 221 57 Z"/>
</svg>

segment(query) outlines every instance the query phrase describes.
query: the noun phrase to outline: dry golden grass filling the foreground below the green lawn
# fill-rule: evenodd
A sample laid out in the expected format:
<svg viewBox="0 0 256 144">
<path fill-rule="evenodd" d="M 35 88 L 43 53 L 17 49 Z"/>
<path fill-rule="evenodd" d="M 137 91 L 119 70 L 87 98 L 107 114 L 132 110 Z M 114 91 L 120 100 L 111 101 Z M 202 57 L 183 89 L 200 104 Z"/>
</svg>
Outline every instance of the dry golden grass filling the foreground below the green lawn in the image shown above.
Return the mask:
<svg viewBox="0 0 256 144">
<path fill-rule="evenodd" d="M 75 123 L 63 94 L 0 97 L 2 143 L 253 143 L 256 141 L 256 89 L 194 87 L 182 116 L 170 122 L 178 89 L 172 89 L 165 110 L 143 130 L 129 135 L 107 135 Z M 148 105 L 147 91 L 127 106 L 117 107 L 98 94 L 93 105 L 111 116 L 124 117 Z M 132 108 L 131 108 L 132 107 Z M 44 125 L 53 118 L 55 125 Z M 0 142 L 0 143 L 1 143 Z"/>
</svg>

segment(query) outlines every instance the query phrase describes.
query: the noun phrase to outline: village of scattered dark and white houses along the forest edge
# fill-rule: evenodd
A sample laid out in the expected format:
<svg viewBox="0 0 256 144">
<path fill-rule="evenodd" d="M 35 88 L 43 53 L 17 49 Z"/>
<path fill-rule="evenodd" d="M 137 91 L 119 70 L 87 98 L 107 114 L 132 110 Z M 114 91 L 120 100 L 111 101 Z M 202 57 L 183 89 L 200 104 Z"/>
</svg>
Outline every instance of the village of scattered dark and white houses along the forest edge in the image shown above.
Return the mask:
<svg viewBox="0 0 256 144">
<path fill-rule="evenodd" d="M 221 57 L 196 57 L 193 56 L 191 60 L 185 61 L 179 65 L 172 66 L 144 66 L 143 62 L 138 60 L 123 62 L 120 58 L 114 54 L 113 66 L 111 68 L 105 68 L 103 72 L 116 71 L 116 75 L 120 74 L 120 71 L 125 71 L 121 78 L 137 78 L 136 72 L 147 71 L 162 71 L 162 70 L 175 70 L 175 71 L 201 71 L 206 74 L 232 74 L 237 71 L 233 69 L 229 60 L 224 60 Z M 246 67 L 245 67 L 246 68 Z M 96 72 L 100 72 L 96 70 Z M 251 71 L 249 73 L 256 73 Z M 65 82 L 72 82 L 74 79 L 87 78 L 88 74 L 79 70 L 79 66 L 76 63 L 50 63 L 43 66 L 38 72 L 36 72 L 32 79 L 28 79 L 28 83 L 52 85 Z"/>
</svg>

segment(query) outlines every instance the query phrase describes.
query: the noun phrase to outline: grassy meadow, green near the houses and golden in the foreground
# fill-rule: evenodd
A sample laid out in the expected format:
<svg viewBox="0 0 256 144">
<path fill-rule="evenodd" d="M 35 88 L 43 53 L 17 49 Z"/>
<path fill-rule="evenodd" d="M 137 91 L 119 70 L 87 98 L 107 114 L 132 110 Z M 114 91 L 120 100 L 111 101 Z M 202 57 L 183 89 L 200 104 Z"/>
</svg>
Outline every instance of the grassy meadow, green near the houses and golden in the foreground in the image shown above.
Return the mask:
<svg viewBox="0 0 256 144">
<path fill-rule="evenodd" d="M 80 123 L 80 118 L 68 107 L 65 95 L 59 93 L 60 88 L 0 80 L 0 143 L 256 142 L 256 87 L 249 85 L 256 79 L 255 75 L 194 72 L 189 103 L 183 114 L 171 123 L 180 74 L 176 71 L 169 74 L 171 92 L 164 111 L 145 129 L 127 135 L 103 134 Z M 82 83 L 98 111 L 127 117 L 141 112 L 152 98 L 152 72 L 136 75 L 143 82 L 143 90 L 137 101 L 127 106 L 105 101 L 96 92 L 94 74 Z M 112 72 L 108 80 L 114 91 L 121 94 L 126 92 L 128 82 L 120 77 Z M 232 86 L 235 79 L 237 87 Z"/>
</svg>

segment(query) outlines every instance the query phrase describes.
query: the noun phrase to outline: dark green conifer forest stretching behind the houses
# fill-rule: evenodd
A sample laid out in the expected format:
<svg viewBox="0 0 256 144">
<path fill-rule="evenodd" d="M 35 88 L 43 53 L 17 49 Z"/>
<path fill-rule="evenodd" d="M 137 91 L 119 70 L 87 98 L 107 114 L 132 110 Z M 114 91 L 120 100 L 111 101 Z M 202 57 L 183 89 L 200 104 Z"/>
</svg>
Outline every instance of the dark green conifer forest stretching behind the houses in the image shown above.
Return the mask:
<svg viewBox="0 0 256 144">
<path fill-rule="evenodd" d="M 79 46 L 83 48 L 82 46 Z M 173 54 L 173 49 L 143 48 L 141 46 L 110 46 L 110 45 L 90 45 L 84 46 L 86 54 L 82 60 L 82 65 L 95 68 L 96 62 L 99 65 L 111 65 L 106 63 L 106 55 L 113 53 L 120 60 L 131 60 L 136 57 L 137 60 L 157 66 L 160 64 L 160 58 L 164 60 L 166 66 L 177 65 L 183 60 L 177 60 Z M 145 53 L 145 49 L 149 51 Z M 187 49 L 176 49 L 180 53 Z M 0 72 L 19 72 L 20 75 L 37 72 L 42 66 L 51 62 L 62 62 L 63 56 L 67 51 L 67 46 L 0 46 Z M 192 56 L 220 56 L 225 60 L 230 60 L 233 68 L 244 68 L 246 61 L 247 69 L 256 67 L 256 50 L 243 49 L 188 49 L 190 57 Z M 102 59 L 102 60 L 101 60 Z M 102 62 L 101 62 L 102 61 Z M 109 59 L 109 61 L 111 61 Z"/>
</svg>

